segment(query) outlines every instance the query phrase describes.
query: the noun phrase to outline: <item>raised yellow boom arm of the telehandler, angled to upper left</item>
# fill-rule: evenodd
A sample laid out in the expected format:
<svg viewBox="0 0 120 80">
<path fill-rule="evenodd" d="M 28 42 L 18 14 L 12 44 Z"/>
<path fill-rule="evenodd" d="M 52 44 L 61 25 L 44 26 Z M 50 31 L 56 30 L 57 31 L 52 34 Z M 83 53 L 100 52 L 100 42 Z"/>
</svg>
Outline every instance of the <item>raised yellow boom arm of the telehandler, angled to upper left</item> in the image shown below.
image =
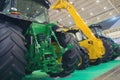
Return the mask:
<svg viewBox="0 0 120 80">
<path fill-rule="evenodd" d="M 93 40 L 96 39 L 92 31 L 85 24 L 81 16 L 79 16 L 73 5 L 68 0 L 59 0 L 52 8 L 58 10 L 67 9 L 69 14 L 73 17 L 77 28 L 79 28 L 87 38 L 91 38 Z"/>
</svg>

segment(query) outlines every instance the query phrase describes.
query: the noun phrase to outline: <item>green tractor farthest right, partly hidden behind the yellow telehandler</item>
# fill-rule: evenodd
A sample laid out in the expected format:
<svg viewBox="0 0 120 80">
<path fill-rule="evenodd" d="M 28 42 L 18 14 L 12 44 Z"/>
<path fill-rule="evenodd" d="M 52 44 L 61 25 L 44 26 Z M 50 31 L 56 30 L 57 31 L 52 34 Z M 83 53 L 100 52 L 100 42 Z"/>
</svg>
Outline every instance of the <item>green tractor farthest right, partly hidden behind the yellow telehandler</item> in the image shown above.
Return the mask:
<svg viewBox="0 0 120 80">
<path fill-rule="evenodd" d="M 112 54 L 109 55 L 110 60 L 114 60 L 115 58 L 117 58 L 120 55 L 120 45 L 114 42 L 111 38 L 105 37 L 102 34 L 102 26 L 93 24 L 90 26 L 90 28 L 96 37 L 101 38 L 102 40 L 107 42 L 106 44 L 104 44 L 104 46 L 106 46 L 107 51 L 112 52 Z M 110 46 L 111 48 L 108 48 L 107 44 L 111 45 Z M 104 57 L 107 57 L 107 56 L 108 55 L 106 54 Z M 103 62 L 106 62 L 106 60 L 103 60 Z"/>
</svg>

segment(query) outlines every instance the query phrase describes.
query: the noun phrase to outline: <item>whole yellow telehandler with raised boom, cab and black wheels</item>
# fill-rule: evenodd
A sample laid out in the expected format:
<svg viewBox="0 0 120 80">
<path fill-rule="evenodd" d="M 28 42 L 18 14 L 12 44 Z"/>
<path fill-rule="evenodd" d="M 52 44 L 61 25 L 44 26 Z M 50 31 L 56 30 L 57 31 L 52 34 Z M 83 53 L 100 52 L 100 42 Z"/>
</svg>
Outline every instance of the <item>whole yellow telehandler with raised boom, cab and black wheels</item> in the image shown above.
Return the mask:
<svg viewBox="0 0 120 80">
<path fill-rule="evenodd" d="M 79 46 L 86 49 L 89 55 L 90 64 L 100 64 L 101 62 L 106 62 L 111 60 L 112 57 L 112 47 L 106 40 L 97 38 L 90 28 L 83 21 L 81 16 L 77 13 L 74 6 L 69 2 L 69 0 L 58 0 L 55 5 L 51 7 L 52 9 L 65 9 L 69 12 L 71 17 L 74 19 L 76 27 L 70 29 L 63 29 L 66 33 L 72 34 L 77 41 Z M 107 51 L 109 50 L 109 51 Z M 84 53 L 83 53 L 84 54 Z M 84 56 L 80 58 L 84 62 Z M 81 65 L 78 65 L 81 69 Z"/>
</svg>

